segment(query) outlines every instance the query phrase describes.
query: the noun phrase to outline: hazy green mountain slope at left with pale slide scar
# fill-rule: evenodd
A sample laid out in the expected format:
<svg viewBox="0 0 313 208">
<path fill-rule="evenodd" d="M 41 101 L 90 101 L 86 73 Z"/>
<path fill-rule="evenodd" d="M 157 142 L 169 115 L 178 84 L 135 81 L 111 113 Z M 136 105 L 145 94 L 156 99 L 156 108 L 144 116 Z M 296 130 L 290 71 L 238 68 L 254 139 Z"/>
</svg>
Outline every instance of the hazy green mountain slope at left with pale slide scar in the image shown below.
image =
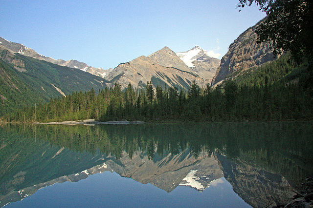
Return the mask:
<svg viewBox="0 0 313 208">
<path fill-rule="evenodd" d="M 73 91 L 104 89 L 107 81 L 79 69 L 0 52 L 0 116 L 50 98 L 66 96 Z"/>
</svg>

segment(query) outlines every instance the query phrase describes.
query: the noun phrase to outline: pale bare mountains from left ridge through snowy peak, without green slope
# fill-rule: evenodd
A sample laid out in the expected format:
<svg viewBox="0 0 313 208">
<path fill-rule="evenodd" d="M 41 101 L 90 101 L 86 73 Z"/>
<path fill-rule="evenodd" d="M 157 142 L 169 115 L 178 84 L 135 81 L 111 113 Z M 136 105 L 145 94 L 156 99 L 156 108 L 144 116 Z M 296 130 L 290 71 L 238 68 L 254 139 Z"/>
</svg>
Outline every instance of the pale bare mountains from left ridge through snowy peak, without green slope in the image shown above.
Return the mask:
<svg viewBox="0 0 313 208">
<path fill-rule="evenodd" d="M 196 46 L 187 52 L 173 52 L 168 47 L 157 51 L 148 57 L 138 57 L 130 62 L 119 64 L 114 69 L 104 70 L 94 68 L 77 60 L 54 59 L 38 54 L 20 43 L 14 43 L 0 38 L 0 50 L 8 50 L 10 53 L 18 53 L 23 56 L 45 60 L 60 66 L 80 69 L 95 76 L 105 78 L 110 83 L 118 82 L 122 88 L 131 83 L 134 88 L 144 88 L 147 81 L 167 87 L 175 86 L 188 89 L 193 81 L 200 86 L 211 83 L 213 76 L 220 65 L 221 60 L 209 57 L 208 53 Z"/>
</svg>

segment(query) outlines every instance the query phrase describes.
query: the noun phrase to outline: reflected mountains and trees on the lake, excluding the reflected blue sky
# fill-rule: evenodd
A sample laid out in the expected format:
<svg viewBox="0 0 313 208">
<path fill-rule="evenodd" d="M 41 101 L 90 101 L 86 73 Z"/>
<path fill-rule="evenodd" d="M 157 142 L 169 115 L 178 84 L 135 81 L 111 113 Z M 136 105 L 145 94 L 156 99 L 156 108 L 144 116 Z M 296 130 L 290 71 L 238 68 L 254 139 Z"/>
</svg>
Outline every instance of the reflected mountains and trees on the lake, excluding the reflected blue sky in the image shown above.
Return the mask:
<svg viewBox="0 0 313 208">
<path fill-rule="evenodd" d="M 115 171 L 167 192 L 225 177 L 249 205 L 284 203 L 312 176 L 313 127 L 299 123 L 5 126 L 0 206 L 42 187 Z"/>
</svg>

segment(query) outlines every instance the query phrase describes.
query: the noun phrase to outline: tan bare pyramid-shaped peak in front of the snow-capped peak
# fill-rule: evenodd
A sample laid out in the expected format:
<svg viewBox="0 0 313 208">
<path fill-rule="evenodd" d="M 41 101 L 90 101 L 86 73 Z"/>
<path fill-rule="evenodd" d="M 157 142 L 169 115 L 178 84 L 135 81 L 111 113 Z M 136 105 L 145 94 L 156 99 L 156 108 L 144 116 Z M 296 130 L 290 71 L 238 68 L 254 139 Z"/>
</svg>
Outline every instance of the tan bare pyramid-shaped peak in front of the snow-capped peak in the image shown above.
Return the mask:
<svg viewBox="0 0 313 208">
<path fill-rule="evenodd" d="M 175 53 L 173 55 L 176 56 Z M 158 59 L 156 56 L 151 56 Z M 162 60 L 162 62 L 165 61 Z M 122 85 L 122 89 L 126 88 L 128 83 L 131 83 L 134 88 L 145 88 L 147 81 L 151 81 L 154 87 L 167 85 L 188 89 L 193 81 L 200 86 L 205 85 L 206 80 L 188 67 L 184 67 L 183 70 L 162 66 L 149 57 L 141 56 L 130 62 L 119 64 L 105 76 L 105 79 L 110 82 L 118 82 Z"/>
</svg>

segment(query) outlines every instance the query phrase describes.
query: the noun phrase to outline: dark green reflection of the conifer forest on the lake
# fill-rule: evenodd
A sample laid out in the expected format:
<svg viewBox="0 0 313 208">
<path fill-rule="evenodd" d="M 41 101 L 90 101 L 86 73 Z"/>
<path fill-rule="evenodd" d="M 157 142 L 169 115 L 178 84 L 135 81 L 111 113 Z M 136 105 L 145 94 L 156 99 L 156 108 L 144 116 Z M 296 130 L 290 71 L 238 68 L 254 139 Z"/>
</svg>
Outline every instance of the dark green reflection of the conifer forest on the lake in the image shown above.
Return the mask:
<svg viewBox="0 0 313 208">
<path fill-rule="evenodd" d="M 36 131 L 35 131 L 36 129 Z M 296 181 L 313 172 L 313 125 L 303 123 L 180 123 L 103 126 L 20 126 L 6 131 L 34 137 L 77 152 L 97 150 L 119 159 L 145 152 L 149 159 L 189 149 L 194 156 L 217 151 L 250 161 Z M 19 148 L 14 146 L 12 148 Z M 0 155 L 1 156 L 1 155 Z M 292 170 L 292 171 L 286 171 Z"/>
</svg>

